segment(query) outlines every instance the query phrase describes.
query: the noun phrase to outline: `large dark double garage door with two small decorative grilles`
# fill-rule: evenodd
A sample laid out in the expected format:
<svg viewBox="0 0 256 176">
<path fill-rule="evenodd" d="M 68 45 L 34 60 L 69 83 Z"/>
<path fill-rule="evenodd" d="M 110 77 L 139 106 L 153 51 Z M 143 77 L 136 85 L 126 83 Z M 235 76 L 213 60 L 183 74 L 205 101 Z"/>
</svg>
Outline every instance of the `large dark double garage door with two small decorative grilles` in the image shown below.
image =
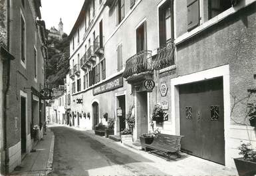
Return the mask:
<svg viewBox="0 0 256 176">
<path fill-rule="evenodd" d="M 180 86 L 182 150 L 225 165 L 223 79 Z"/>
</svg>

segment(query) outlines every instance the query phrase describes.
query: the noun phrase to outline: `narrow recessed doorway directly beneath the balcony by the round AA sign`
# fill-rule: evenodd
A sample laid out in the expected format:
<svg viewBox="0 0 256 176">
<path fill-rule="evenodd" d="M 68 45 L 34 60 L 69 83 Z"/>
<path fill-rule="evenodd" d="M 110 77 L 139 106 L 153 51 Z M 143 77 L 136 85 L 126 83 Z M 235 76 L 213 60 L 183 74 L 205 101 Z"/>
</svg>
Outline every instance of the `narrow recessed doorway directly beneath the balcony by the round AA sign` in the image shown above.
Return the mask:
<svg viewBox="0 0 256 176">
<path fill-rule="evenodd" d="M 137 92 L 137 139 L 148 133 L 148 96 L 147 92 Z"/>
</svg>

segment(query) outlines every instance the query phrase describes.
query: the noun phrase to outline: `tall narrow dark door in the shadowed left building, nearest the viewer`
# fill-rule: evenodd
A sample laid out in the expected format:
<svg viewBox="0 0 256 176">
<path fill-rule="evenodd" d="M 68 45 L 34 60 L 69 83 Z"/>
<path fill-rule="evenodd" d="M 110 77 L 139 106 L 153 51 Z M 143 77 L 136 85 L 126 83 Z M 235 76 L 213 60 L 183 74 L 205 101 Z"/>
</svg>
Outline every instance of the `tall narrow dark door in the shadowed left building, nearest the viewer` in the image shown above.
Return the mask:
<svg viewBox="0 0 256 176">
<path fill-rule="evenodd" d="M 26 153 L 26 98 L 21 97 L 21 152 Z"/>
</svg>

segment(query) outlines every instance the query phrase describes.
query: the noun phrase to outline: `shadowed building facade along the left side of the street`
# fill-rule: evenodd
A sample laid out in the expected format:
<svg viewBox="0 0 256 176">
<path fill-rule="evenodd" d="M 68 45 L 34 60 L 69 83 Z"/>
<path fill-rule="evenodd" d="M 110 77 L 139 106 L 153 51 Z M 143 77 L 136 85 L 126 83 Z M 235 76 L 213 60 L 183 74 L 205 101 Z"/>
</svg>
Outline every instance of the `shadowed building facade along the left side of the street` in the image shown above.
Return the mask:
<svg viewBox="0 0 256 176">
<path fill-rule="evenodd" d="M 41 1 L 1 1 L 1 13 L 6 18 L 1 19 L 1 36 L 6 35 L 5 50 L 1 51 L 15 58 L 2 65 L 1 173 L 13 171 L 31 151 L 33 127 L 37 126 L 37 135 L 43 137 L 45 108 L 40 91 L 44 87 L 47 50 L 40 7 Z M 3 53 L 1 56 L 7 56 Z"/>
</svg>

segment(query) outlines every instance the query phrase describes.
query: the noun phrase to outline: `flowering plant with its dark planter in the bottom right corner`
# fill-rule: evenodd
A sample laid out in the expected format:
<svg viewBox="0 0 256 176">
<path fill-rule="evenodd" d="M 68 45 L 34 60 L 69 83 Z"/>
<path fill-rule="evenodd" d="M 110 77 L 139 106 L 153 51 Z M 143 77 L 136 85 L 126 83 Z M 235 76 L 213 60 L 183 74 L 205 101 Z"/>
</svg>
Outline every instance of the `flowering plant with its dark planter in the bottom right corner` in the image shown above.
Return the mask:
<svg viewBox="0 0 256 176">
<path fill-rule="evenodd" d="M 251 143 L 242 143 L 238 148 L 241 158 L 234 158 L 239 176 L 256 174 L 256 149 L 251 149 Z"/>
</svg>

